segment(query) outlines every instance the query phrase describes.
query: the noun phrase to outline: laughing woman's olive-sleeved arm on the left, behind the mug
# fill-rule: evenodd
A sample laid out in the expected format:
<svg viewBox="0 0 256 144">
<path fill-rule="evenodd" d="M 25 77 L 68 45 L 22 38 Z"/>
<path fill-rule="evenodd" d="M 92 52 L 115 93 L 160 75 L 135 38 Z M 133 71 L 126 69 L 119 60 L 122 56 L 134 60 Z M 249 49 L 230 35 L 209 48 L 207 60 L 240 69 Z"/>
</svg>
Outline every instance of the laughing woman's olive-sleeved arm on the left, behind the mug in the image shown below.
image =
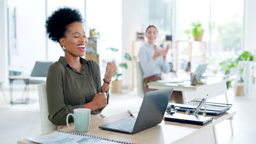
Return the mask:
<svg viewBox="0 0 256 144">
<path fill-rule="evenodd" d="M 55 125 L 66 124 L 66 116 L 73 113 L 74 109 L 84 108 L 84 105 L 66 105 L 63 94 L 63 73 L 62 65 L 54 63 L 48 69 L 46 79 L 46 94 L 48 101 L 49 121 Z M 73 122 L 73 117 L 69 117 L 69 122 Z"/>
</svg>

